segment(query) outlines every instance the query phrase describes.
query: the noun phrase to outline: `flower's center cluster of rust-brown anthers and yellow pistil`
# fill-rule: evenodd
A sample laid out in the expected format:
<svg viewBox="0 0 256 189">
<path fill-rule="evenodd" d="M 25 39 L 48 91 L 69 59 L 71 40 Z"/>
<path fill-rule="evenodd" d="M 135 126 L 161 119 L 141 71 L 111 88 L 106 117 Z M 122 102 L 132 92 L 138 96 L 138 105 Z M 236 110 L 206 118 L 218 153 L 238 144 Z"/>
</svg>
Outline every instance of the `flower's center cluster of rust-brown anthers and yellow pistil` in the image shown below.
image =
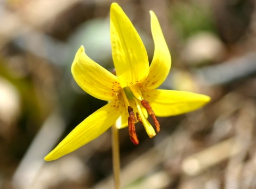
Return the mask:
<svg viewBox="0 0 256 189">
<path fill-rule="evenodd" d="M 124 98 L 126 108 L 129 113 L 128 126 L 131 141 L 134 144 L 139 144 L 134 125 L 136 122 L 140 122 L 145 127 L 145 130 L 150 138 L 155 136 L 155 130 L 148 122 L 147 114 L 153 118 L 157 132 L 160 131 L 160 125 L 148 101 L 143 99 L 140 88 L 137 85 L 125 87 L 123 90 L 121 90 L 121 94 Z"/>
</svg>

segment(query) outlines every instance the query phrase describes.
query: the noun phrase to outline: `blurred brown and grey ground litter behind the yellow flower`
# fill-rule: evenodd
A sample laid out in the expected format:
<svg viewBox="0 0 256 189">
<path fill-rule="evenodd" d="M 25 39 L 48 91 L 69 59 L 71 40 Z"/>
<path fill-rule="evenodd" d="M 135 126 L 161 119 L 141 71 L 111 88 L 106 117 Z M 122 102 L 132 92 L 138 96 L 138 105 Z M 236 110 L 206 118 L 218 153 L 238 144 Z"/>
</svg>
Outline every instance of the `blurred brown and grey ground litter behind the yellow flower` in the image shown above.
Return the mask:
<svg viewBox="0 0 256 189">
<path fill-rule="evenodd" d="M 56 161 L 49 153 L 106 104 L 86 94 L 70 66 L 79 46 L 113 70 L 111 0 L 0 1 L 0 188 L 113 188 L 111 132 Z M 139 145 L 120 130 L 122 186 L 256 188 L 254 0 L 119 0 L 153 58 L 149 11 L 171 51 L 160 88 L 209 95 L 197 111 L 158 118 Z"/>
</svg>

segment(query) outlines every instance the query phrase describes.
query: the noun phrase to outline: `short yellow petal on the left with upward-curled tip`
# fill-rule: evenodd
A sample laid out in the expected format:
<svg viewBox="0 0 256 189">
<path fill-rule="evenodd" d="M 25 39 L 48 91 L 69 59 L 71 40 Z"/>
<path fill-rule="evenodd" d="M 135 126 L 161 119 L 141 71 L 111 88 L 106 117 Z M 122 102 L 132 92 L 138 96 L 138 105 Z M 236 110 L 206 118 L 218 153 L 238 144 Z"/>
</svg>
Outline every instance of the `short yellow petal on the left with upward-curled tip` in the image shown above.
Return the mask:
<svg viewBox="0 0 256 189">
<path fill-rule="evenodd" d="M 71 72 L 85 92 L 101 100 L 112 100 L 121 88 L 117 77 L 92 61 L 83 46 L 76 53 Z"/>
</svg>

